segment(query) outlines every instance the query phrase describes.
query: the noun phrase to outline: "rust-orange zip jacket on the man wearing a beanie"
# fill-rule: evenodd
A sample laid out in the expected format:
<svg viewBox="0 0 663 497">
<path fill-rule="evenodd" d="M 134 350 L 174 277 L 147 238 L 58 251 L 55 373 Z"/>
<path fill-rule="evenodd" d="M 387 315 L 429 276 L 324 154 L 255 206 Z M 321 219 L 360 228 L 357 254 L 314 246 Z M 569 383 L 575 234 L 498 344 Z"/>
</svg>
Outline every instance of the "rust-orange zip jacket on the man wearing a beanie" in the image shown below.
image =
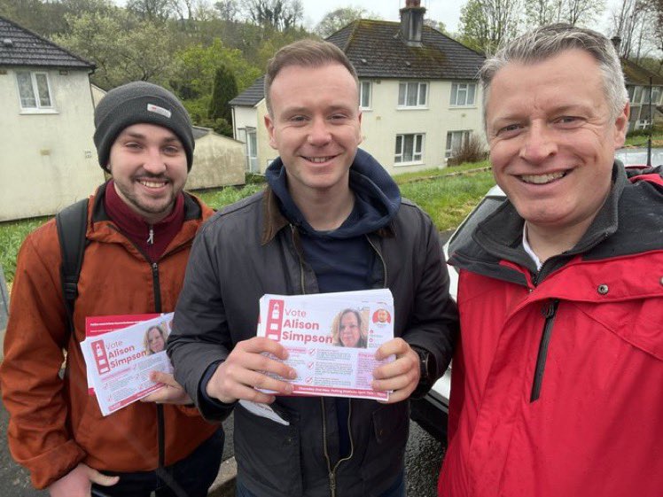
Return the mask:
<svg viewBox="0 0 663 497">
<path fill-rule="evenodd" d="M 193 237 L 213 214 L 185 195 L 182 229 L 152 264 L 108 219 L 104 192 L 105 185 L 90 197 L 74 336 L 66 324 L 55 221 L 30 234 L 19 253 L 0 385 L 11 415 L 12 456 L 30 470 L 37 488 L 51 485 L 79 462 L 97 470 L 155 470 L 160 463 L 182 460 L 217 429 L 193 408 L 147 402 L 104 417 L 96 398 L 88 395 L 79 346 L 85 316 L 173 311 Z M 63 380 L 58 371 L 65 356 Z"/>
</svg>

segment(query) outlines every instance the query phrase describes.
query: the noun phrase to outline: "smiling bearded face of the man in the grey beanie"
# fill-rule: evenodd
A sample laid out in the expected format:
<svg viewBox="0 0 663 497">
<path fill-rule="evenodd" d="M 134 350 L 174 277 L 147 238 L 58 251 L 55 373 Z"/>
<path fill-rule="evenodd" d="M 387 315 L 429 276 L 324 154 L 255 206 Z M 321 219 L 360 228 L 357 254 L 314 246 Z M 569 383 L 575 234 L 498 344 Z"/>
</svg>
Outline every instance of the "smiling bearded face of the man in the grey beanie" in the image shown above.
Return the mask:
<svg viewBox="0 0 663 497">
<path fill-rule="evenodd" d="M 115 190 L 131 210 L 155 223 L 170 214 L 186 182 L 186 153 L 168 128 L 134 124 L 111 146 L 108 168 Z"/>
</svg>

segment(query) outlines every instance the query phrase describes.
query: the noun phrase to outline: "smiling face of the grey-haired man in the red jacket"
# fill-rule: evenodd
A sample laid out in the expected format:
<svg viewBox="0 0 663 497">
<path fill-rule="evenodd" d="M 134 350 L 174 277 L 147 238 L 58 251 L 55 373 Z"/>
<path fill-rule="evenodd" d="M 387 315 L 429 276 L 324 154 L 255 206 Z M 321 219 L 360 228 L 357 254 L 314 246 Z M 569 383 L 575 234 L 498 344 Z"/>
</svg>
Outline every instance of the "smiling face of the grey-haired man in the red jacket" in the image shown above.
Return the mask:
<svg viewBox="0 0 663 497">
<path fill-rule="evenodd" d="M 628 124 L 628 105 L 611 119 L 596 60 L 573 49 L 534 64 L 511 62 L 487 97 L 497 184 L 528 226 L 584 233 L 610 191 Z"/>
</svg>

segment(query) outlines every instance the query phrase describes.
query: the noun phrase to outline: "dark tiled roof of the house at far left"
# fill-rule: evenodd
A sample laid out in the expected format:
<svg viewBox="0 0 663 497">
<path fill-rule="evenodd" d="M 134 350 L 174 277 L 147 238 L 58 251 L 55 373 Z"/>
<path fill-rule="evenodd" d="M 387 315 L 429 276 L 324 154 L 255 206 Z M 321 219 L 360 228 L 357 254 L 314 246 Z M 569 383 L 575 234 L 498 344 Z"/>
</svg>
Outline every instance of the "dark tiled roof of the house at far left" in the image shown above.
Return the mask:
<svg viewBox="0 0 663 497">
<path fill-rule="evenodd" d="M 84 58 L 3 17 L 0 17 L 0 66 L 95 68 Z"/>
</svg>

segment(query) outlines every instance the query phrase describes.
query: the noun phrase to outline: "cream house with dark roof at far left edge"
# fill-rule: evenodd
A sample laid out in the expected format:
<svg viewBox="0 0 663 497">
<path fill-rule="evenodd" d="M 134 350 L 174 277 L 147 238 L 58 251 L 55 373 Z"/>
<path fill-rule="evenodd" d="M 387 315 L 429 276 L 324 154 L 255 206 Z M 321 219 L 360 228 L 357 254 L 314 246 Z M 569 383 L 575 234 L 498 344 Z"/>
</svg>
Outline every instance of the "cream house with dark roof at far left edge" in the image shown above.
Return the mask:
<svg viewBox="0 0 663 497">
<path fill-rule="evenodd" d="M 0 221 L 54 214 L 104 181 L 95 66 L 0 17 Z"/>
</svg>

